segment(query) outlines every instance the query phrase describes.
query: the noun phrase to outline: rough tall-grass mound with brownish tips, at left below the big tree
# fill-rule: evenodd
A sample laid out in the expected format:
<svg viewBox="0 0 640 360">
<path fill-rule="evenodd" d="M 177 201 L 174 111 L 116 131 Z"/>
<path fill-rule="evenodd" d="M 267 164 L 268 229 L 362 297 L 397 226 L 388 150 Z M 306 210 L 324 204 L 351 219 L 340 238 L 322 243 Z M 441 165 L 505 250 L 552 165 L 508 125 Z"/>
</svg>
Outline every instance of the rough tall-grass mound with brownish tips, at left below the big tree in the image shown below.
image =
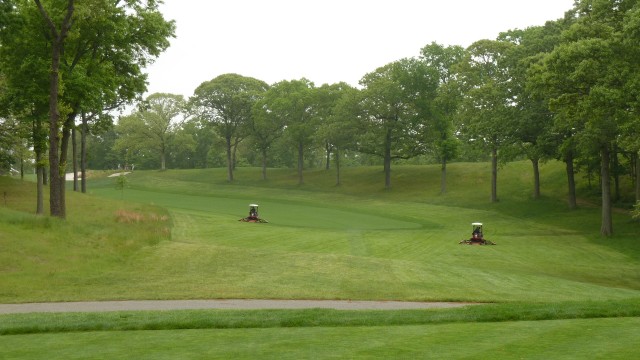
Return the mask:
<svg viewBox="0 0 640 360">
<path fill-rule="evenodd" d="M 0 181 L 10 193 L 30 185 Z M 15 206 L 19 210 L 0 208 L 0 301 L 96 298 L 85 290 L 86 284 L 110 283 L 110 271 L 125 266 L 141 249 L 170 239 L 171 220 L 165 209 L 96 201 L 73 192 L 67 198 L 66 220 L 20 211 L 24 204 Z M 123 214 L 140 221 L 122 221 Z"/>
</svg>

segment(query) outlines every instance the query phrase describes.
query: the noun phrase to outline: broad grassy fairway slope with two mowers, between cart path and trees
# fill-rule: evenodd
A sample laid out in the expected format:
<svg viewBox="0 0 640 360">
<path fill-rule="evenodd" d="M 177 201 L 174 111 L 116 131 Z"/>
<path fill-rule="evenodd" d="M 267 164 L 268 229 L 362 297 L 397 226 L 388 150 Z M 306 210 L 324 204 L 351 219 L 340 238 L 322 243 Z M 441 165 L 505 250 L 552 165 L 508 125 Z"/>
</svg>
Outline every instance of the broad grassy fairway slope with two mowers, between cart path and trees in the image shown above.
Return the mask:
<svg viewBox="0 0 640 360">
<path fill-rule="evenodd" d="M 219 169 L 136 172 L 124 192 L 99 178 L 91 192 L 113 200 L 97 205 L 95 197 L 70 194 L 67 222 L 27 217 L 27 225 L 3 226 L 13 251 L 3 253 L 0 301 L 640 297 L 637 224 L 617 214 L 618 235 L 600 238 L 596 207 L 566 210 L 559 164 L 543 167 L 545 196 L 536 201 L 528 165 L 508 165 L 501 201 L 490 204 L 487 170 L 451 165 L 446 195 L 438 194 L 437 167 L 396 167 L 392 190 L 382 189 L 378 168 L 345 169 L 341 187 L 326 171 L 307 172 L 303 186 L 289 170 L 272 170 L 264 182 L 257 169 L 239 169 L 233 185 Z M 270 224 L 236 221 L 250 202 L 261 204 Z M 135 203 L 170 209 L 171 241 L 161 241 L 168 224 L 150 215 L 140 224 L 116 222 L 121 208 L 133 207 L 125 217 L 161 211 Z M 472 221 L 485 222 L 499 245 L 458 245 Z"/>
</svg>

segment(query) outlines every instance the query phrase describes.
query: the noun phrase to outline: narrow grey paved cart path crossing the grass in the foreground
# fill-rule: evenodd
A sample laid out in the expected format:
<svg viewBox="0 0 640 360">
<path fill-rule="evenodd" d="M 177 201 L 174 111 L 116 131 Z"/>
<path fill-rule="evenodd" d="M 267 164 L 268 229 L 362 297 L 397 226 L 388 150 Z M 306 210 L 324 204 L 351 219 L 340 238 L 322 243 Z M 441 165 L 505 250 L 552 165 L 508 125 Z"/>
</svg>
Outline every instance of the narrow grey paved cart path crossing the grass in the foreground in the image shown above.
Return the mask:
<svg viewBox="0 0 640 360">
<path fill-rule="evenodd" d="M 0 314 L 42 312 L 109 312 L 195 309 L 336 309 L 410 310 L 473 305 L 457 302 L 348 301 L 348 300 L 135 300 L 61 303 L 0 304 Z"/>
</svg>

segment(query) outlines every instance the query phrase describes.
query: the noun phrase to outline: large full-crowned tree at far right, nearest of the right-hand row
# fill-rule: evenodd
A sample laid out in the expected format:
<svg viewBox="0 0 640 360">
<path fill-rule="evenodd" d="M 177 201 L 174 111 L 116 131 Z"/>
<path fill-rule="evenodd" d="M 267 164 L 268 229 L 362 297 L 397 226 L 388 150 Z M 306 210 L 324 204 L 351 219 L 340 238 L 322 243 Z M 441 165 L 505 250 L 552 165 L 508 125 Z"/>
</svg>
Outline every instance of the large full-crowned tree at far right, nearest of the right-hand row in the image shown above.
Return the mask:
<svg viewBox="0 0 640 360">
<path fill-rule="evenodd" d="M 621 129 L 630 119 L 633 99 L 627 84 L 636 77 L 635 45 L 625 40 L 625 19 L 637 1 L 576 2 L 577 19 L 563 42 L 545 57 L 550 105 L 565 128 L 575 129 L 578 145 L 600 156 L 602 222 L 600 233 L 613 234 L 611 159 Z M 637 14 L 637 12 L 635 12 Z"/>
</svg>

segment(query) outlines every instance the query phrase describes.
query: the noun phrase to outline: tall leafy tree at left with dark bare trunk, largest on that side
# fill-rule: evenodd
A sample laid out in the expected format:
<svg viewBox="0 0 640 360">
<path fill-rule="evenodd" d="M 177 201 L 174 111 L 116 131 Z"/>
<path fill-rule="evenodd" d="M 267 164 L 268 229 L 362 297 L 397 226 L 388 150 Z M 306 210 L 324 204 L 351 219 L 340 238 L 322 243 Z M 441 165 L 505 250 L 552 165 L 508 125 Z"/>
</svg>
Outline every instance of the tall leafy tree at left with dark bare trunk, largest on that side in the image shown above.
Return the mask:
<svg viewBox="0 0 640 360">
<path fill-rule="evenodd" d="M 48 90 L 22 97 L 18 112 L 39 117 L 33 109 L 39 111 L 47 95 L 51 214 L 65 217 L 63 174 L 76 116 L 102 113 L 144 92 L 143 69 L 169 46 L 174 24 L 164 20 L 155 0 L 34 3 L 15 1 L 12 21 L 2 30 L 8 34 L 2 57 L 15 74 L 14 88 L 26 83 L 41 89 L 42 72 L 49 73 Z"/>
</svg>

